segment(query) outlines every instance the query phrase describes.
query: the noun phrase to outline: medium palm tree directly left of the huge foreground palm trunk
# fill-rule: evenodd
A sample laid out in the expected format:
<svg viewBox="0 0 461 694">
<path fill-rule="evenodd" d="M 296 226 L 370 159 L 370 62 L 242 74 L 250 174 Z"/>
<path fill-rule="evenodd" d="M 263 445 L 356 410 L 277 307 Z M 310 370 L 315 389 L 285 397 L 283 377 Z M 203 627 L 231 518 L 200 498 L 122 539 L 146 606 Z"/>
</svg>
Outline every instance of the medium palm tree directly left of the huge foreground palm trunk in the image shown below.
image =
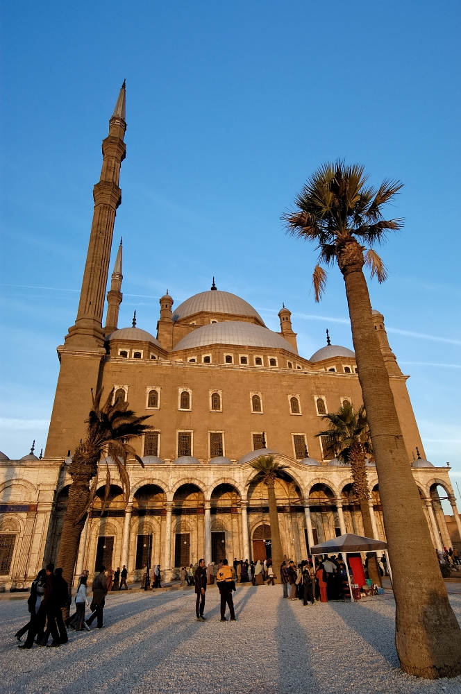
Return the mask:
<svg viewBox="0 0 461 694">
<path fill-rule="evenodd" d="M 362 405 L 355 412 L 349 400 L 344 403 L 334 414 L 324 414 L 322 419 L 330 423 L 330 427 L 323 432 L 319 432 L 317 437 L 321 437 L 326 443 L 326 455 L 336 456 L 345 464 L 351 466 L 353 479 L 353 494 L 360 504 L 362 513 L 363 530 L 366 537 L 374 537 L 373 525 L 371 523 L 371 511 L 369 507 L 370 490 L 367 480 L 367 456 L 373 457 L 373 446 L 371 445 L 370 430 L 367 422 L 367 414 Z M 380 571 L 376 552 L 369 558 L 368 570 L 371 580 L 381 585 Z"/>
</svg>

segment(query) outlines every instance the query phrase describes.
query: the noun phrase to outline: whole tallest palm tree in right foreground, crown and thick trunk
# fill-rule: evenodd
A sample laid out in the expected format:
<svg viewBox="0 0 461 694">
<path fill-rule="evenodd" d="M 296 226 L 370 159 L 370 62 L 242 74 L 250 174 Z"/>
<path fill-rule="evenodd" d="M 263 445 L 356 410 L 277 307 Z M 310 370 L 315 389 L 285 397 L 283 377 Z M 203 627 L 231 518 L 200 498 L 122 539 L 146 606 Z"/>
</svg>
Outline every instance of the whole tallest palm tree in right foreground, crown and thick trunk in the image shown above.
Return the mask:
<svg viewBox="0 0 461 694">
<path fill-rule="evenodd" d="M 289 232 L 317 244 L 319 263 L 337 262 L 344 278 L 392 563 L 396 649 L 405 672 L 433 679 L 460 675 L 461 631 L 408 461 L 363 273 L 366 264 L 379 282 L 386 278 L 385 265 L 372 246 L 383 242 L 389 230 L 403 226 L 401 219 L 385 220 L 382 212 L 401 187 L 399 181 L 385 180 L 374 189 L 364 167 L 327 163 L 308 179 L 296 196 L 296 210 L 283 219 Z M 317 264 L 313 276 L 317 301 L 325 283 L 326 272 Z M 416 556 L 420 561 L 405 561 Z"/>
</svg>

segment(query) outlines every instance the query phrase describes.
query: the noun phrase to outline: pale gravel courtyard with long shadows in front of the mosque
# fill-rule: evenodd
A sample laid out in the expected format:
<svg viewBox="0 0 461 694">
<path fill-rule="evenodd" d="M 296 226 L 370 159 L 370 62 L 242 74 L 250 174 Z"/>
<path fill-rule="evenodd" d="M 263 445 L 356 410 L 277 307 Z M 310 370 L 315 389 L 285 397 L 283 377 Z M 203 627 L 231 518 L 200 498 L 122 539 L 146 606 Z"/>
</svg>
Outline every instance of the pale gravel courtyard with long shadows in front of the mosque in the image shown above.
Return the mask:
<svg viewBox="0 0 461 694">
<path fill-rule="evenodd" d="M 26 651 L 14 638 L 27 620 L 26 600 L 1 601 L 0 691 L 461 694 L 461 677 L 423 682 L 399 670 L 390 595 L 314 607 L 283 600 L 280 586 L 240 587 L 234 596 L 237 622 L 219 621 L 213 588 L 208 621 L 197 623 L 189 590 L 109 595 L 103 629 Z M 451 602 L 461 620 L 461 595 Z"/>
</svg>

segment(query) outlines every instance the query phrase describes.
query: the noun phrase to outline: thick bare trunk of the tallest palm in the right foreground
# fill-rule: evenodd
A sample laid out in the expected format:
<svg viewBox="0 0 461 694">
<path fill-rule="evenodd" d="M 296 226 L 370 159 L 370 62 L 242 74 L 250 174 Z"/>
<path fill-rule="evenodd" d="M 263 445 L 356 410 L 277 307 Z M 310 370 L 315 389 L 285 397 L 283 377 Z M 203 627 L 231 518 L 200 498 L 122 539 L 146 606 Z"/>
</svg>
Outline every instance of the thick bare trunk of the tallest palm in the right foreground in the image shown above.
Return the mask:
<svg viewBox="0 0 461 694">
<path fill-rule="evenodd" d="M 461 674 L 461 630 L 439 569 L 380 352 L 362 267 L 362 246 L 337 248 L 344 276 L 358 378 L 376 458 L 396 600 L 396 649 L 410 675 Z M 420 561 L 408 563 L 407 557 Z"/>
</svg>

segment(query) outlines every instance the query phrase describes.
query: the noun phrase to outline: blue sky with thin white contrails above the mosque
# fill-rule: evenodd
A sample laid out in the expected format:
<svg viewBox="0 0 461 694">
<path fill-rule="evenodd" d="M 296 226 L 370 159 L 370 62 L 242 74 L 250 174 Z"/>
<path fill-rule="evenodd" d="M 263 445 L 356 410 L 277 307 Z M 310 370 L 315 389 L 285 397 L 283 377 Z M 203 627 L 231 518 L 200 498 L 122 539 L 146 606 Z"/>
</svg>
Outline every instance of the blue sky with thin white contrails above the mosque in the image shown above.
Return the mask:
<svg viewBox="0 0 461 694">
<path fill-rule="evenodd" d="M 4 3 L 0 448 L 44 447 L 56 346 L 74 323 L 101 139 L 127 83 L 119 325 L 158 298 L 244 297 L 300 352 L 351 346 L 344 282 L 315 304 L 312 246 L 280 215 L 326 160 L 405 183 L 405 227 L 369 283 L 426 454 L 461 486 L 460 5 L 258 1 Z M 117 243 L 114 245 L 114 252 Z"/>
</svg>

